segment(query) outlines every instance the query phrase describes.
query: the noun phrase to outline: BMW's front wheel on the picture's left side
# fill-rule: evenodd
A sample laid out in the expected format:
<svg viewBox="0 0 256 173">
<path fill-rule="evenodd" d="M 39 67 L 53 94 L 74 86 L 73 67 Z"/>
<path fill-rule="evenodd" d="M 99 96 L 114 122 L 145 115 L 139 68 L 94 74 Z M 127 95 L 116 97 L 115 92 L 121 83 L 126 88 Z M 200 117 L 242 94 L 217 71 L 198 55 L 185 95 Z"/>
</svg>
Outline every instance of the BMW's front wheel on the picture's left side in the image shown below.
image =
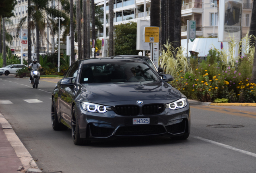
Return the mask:
<svg viewBox="0 0 256 173">
<path fill-rule="evenodd" d="M 91 141 L 84 140 L 80 137 L 79 125 L 77 123 L 77 114 L 76 114 L 76 106 L 72 109 L 72 125 L 71 125 L 71 132 L 72 132 L 72 139 L 75 145 L 87 145 Z"/>
</svg>

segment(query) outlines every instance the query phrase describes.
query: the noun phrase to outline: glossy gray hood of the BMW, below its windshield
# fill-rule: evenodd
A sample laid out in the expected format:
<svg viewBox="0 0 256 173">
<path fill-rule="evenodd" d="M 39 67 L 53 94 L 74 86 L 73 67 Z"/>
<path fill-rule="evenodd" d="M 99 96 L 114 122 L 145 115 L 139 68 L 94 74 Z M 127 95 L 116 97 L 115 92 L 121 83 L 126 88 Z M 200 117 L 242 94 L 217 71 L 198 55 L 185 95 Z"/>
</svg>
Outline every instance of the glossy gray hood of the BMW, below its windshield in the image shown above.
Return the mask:
<svg viewBox="0 0 256 173">
<path fill-rule="evenodd" d="M 168 100 L 181 98 L 180 91 L 167 82 L 118 82 L 81 84 L 81 94 L 93 103 L 107 103 L 130 100 Z"/>
</svg>

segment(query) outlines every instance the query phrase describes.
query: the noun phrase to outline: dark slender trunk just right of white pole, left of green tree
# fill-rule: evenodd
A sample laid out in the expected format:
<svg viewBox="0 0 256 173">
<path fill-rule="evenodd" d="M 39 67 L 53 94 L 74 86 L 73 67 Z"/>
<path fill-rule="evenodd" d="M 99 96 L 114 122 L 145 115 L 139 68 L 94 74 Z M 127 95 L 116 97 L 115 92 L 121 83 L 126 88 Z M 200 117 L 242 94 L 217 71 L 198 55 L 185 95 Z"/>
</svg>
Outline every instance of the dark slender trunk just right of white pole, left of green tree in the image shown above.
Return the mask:
<svg viewBox="0 0 256 173">
<path fill-rule="evenodd" d="M 114 56 L 114 0 L 109 0 L 109 56 Z"/>
</svg>

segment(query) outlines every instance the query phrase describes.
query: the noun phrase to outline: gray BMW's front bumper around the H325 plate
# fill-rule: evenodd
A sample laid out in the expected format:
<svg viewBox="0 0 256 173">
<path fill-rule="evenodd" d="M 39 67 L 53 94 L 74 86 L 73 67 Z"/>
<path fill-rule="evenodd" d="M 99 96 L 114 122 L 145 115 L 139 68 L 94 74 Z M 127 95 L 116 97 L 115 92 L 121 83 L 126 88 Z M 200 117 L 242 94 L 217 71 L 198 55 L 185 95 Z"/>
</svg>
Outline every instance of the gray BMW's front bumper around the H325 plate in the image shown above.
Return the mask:
<svg viewBox="0 0 256 173">
<path fill-rule="evenodd" d="M 80 137 L 87 139 L 112 139 L 163 135 L 174 137 L 190 133 L 190 107 L 165 110 L 156 115 L 123 116 L 114 111 L 92 113 L 77 107 Z M 133 125 L 134 118 L 149 118 L 150 124 Z"/>
</svg>

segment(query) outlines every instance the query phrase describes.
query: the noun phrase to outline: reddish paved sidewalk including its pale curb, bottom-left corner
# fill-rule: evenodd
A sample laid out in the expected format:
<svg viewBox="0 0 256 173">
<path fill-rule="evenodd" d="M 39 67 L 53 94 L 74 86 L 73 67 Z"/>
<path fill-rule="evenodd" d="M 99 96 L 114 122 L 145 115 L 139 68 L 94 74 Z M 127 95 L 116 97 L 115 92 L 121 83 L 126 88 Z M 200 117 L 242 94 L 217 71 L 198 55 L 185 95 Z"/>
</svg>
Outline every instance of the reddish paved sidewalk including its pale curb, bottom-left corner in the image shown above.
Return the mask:
<svg viewBox="0 0 256 173">
<path fill-rule="evenodd" d="M 2 114 L 0 114 L 0 173 L 42 173 Z"/>
</svg>

